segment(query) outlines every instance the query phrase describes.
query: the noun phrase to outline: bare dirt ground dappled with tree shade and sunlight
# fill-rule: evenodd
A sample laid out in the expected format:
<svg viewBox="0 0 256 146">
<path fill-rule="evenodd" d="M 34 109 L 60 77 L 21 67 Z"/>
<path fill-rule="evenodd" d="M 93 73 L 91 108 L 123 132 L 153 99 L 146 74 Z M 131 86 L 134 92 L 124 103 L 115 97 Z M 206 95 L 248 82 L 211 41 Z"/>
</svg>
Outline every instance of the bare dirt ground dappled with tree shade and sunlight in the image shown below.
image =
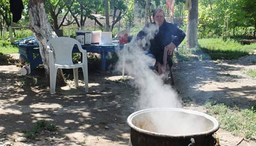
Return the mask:
<svg viewBox="0 0 256 146">
<path fill-rule="evenodd" d="M 256 105 L 256 80 L 244 70 L 256 68 L 256 55 L 232 61 L 176 62 L 173 66 L 173 89 L 186 100 L 184 108 L 206 112 L 206 101 L 221 101 L 230 107 L 248 108 Z M 21 76 L 15 65 L 0 66 L 0 146 L 127 146 L 129 126 L 127 117 L 136 111 L 137 89 L 121 76 L 111 73 L 89 72 L 89 92 L 68 85 L 50 89 L 42 86 L 22 86 L 31 80 Z M 39 73 L 40 71 L 37 71 Z M 82 77 L 82 76 L 80 76 Z M 38 77 L 38 82 L 44 80 Z M 37 120 L 45 119 L 58 126 L 57 131 L 41 131 L 34 140 L 17 142 Z M 219 129 L 221 146 L 236 145 L 242 137 Z M 52 139 L 64 138 L 64 139 Z M 4 138 L 4 139 L 1 139 Z M 255 141 L 244 140 L 240 146 L 256 146 Z"/>
</svg>

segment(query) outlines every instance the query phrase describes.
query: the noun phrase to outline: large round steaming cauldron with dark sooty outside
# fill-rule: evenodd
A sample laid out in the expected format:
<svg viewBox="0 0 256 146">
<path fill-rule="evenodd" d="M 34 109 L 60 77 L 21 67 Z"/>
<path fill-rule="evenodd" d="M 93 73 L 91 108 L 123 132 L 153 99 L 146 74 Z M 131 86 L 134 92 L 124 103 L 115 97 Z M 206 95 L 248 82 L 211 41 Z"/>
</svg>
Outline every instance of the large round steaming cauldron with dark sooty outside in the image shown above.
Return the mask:
<svg viewBox="0 0 256 146">
<path fill-rule="evenodd" d="M 214 146 L 213 134 L 219 129 L 212 116 L 180 108 L 137 111 L 127 123 L 132 146 Z"/>
</svg>

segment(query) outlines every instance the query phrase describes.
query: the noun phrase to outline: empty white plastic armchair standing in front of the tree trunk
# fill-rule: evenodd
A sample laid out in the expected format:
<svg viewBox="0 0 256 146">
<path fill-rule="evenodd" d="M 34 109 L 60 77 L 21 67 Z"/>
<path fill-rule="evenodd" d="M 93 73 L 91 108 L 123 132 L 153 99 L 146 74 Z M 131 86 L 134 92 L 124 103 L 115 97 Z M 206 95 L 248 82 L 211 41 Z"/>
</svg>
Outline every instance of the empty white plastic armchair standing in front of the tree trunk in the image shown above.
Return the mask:
<svg viewBox="0 0 256 146">
<path fill-rule="evenodd" d="M 73 64 L 72 49 L 74 45 L 78 46 L 79 51 L 83 55 L 82 63 Z M 55 93 L 57 69 L 73 69 L 75 87 L 78 87 L 78 68 L 83 69 L 83 77 L 85 90 L 88 92 L 88 68 L 87 68 L 87 52 L 82 49 L 81 44 L 73 38 L 58 37 L 47 42 L 49 51 L 49 68 L 50 68 L 50 92 Z"/>
</svg>

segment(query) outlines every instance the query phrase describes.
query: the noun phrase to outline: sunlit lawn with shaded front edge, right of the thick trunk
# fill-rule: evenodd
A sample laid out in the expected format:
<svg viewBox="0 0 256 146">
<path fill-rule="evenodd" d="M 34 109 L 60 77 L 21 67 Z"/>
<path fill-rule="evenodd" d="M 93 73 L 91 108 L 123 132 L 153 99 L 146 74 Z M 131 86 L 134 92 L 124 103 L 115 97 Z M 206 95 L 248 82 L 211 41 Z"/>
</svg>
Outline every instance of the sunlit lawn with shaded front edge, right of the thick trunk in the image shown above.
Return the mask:
<svg viewBox="0 0 256 146">
<path fill-rule="evenodd" d="M 256 43 L 241 45 L 233 39 L 199 39 L 202 49 L 211 56 L 211 59 L 237 59 L 249 55 L 256 49 Z"/>
</svg>

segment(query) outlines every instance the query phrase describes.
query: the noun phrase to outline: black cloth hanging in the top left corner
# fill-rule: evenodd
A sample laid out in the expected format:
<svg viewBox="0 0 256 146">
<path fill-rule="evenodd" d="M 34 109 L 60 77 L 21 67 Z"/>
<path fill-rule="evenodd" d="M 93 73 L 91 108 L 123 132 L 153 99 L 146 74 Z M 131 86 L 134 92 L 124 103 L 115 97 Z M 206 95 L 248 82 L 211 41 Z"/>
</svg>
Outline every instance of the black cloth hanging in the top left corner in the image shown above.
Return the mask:
<svg viewBox="0 0 256 146">
<path fill-rule="evenodd" d="M 10 0 L 10 11 L 12 12 L 12 22 L 17 23 L 23 11 L 22 0 Z"/>
</svg>

